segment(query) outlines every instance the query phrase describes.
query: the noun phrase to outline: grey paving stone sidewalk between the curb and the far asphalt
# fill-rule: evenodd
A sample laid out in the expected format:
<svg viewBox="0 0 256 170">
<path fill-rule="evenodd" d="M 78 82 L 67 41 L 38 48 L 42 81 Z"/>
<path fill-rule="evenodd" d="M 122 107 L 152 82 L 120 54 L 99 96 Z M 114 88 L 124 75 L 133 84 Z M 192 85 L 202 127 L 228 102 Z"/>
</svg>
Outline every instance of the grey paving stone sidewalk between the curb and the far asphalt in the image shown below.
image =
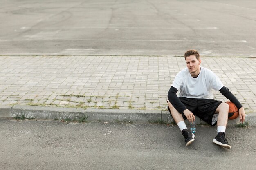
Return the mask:
<svg viewBox="0 0 256 170">
<path fill-rule="evenodd" d="M 245 107 L 256 110 L 256 59 L 202 57 Z M 173 56 L 0 56 L 0 104 L 165 110 Z M 226 101 L 218 91 L 215 99 Z"/>
</svg>

